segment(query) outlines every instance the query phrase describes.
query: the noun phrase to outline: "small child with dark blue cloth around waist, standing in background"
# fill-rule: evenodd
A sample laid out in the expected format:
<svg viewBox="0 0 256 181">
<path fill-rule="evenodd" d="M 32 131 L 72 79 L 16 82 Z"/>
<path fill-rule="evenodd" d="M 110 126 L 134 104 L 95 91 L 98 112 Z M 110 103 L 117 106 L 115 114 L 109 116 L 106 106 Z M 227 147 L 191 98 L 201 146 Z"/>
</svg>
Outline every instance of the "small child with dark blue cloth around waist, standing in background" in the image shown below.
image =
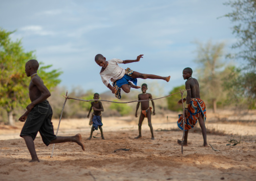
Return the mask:
<svg viewBox="0 0 256 181">
<path fill-rule="evenodd" d="M 92 139 L 92 133 L 94 130 L 98 130 L 98 127 L 101 132 L 102 140 L 105 140 L 105 138 L 103 136 L 102 128 L 101 128 L 103 126 L 103 124 L 101 122 L 101 120 L 102 120 L 101 119 L 101 111 L 104 111 L 104 108 L 102 106 L 102 103 L 98 100 L 99 98 L 100 98 L 100 95 L 98 93 L 95 93 L 93 99 L 97 99 L 97 101 L 95 100 L 95 101 L 91 102 L 91 107 L 90 107 L 89 113 L 87 115 L 87 117 L 89 118 L 90 112 L 93 109 L 92 117 L 91 117 L 90 123 L 89 123 L 89 125 L 92 125 L 91 135 L 87 140 Z"/>
</svg>

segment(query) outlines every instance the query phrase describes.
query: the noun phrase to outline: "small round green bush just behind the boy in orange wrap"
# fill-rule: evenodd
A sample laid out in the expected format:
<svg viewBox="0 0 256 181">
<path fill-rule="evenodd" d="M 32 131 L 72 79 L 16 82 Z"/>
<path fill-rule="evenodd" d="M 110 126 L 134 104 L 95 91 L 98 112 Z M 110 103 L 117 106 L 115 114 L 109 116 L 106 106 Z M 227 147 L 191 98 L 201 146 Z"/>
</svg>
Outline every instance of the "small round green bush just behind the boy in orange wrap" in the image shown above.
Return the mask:
<svg viewBox="0 0 256 181">
<path fill-rule="evenodd" d="M 174 87 L 170 91 L 169 95 L 179 92 L 179 89 L 180 90 L 185 90 L 185 84 L 182 85 L 182 86 Z M 186 97 L 186 92 L 184 92 L 184 94 L 183 94 L 183 98 L 184 97 Z M 173 111 L 183 110 L 182 106 L 177 104 L 179 99 L 181 99 L 180 94 L 174 94 L 172 96 L 167 97 L 166 99 L 167 99 L 168 109 L 173 110 Z"/>
</svg>

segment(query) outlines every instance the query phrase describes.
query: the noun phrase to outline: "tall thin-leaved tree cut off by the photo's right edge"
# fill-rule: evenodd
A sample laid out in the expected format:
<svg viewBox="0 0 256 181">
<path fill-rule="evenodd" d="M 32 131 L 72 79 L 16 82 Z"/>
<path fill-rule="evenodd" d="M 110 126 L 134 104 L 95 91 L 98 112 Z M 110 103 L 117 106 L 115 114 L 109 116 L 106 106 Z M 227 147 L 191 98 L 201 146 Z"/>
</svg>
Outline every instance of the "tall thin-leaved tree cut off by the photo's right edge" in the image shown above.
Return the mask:
<svg viewBox="0 0 256 181">
<path fill-rule="evenodd" d="M 230 6 L 232 12 L 226 14 L 235 23 L 233 34 L 238 41 L 232 48 L 238 48 L 235 54 L 237 58 L 247 61 L 247 65 L 242 67 L 241 76 L 235 83 L 242 87 L 242 91 L 248 100 L 255 104 L 256 97 L 256 0 L 233 0 L 225 3 Z"/>
</svg>

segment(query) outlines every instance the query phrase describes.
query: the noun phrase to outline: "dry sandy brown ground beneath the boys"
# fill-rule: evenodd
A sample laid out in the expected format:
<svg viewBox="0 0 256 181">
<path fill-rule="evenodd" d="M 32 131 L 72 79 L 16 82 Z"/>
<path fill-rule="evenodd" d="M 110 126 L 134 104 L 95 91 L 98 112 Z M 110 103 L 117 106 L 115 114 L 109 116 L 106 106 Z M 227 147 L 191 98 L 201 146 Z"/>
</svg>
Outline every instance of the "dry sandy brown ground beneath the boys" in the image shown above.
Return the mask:
<svg viewBox="0 0 256 181">
<path fill-rule="evenodd" d="M 213 117 L 208 115 L 209 120 Z M 182 131 L 159 131 L 176 129 L 176 114 L 169 114 L 168 119 L 153 116 L 155 140 L 150 139 L 147 120 L 142 126 L 143 137 L 134 139 L 138 136 L 135 117 L 103 118 L 105 140 L 90 141 L 89 119 L 63 119 L 58 135 L 81 133 L 86 151 L 75 143 L 55 144 L 50 158 L 52 145 L 46 147 L 38 134 L 35 147 L 40 163 L 28 162 L 29 151 L 19 137 L 23 123 L 15 128 L 0 125 L 0 180 L 256 180 L 256 122 L 247 122 L 244 116 L 232 119 L 244 122 L 231 122 L 226 116 L 223 123 L 206 123 L 208 129 L 220 133 L 207 135 L 208 145 L 219 151 L 210 145 L 203 147 L 202 134 L 192 130 L 183 154 L 176 144 Z M 52 122 L 56 130 L 58 120 Z M 99 130 L 93 136 L 100 137 L 97 133 Z M 238 144 L 226 146 L 230 139 Z M 114 152 L 122 148 L 130 150 Z"/>
</svg>

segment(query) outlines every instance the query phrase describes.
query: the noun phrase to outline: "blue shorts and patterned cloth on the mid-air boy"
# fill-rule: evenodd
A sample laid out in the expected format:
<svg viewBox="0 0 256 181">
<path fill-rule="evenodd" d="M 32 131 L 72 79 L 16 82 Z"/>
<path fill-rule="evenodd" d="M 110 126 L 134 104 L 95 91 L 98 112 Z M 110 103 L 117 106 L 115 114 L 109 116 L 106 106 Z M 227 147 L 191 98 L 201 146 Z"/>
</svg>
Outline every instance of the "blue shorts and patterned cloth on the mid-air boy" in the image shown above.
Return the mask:
<svg viewBox="0 0 256 181">
<path fill-rule="evenodd" d="M 125 69 L 125 74 L 121 79 L 118 79 L 113 83 L 113 87 L 116 89 L 115 97 L 120 99 L 121 98 L 121 86 L 123 84 L 129 84 L 129 81 L 132 81 L 134 85 L 137 86 L 137 79 L 132 78 L 133 70 L 130 68 Z"/>
</svg>

